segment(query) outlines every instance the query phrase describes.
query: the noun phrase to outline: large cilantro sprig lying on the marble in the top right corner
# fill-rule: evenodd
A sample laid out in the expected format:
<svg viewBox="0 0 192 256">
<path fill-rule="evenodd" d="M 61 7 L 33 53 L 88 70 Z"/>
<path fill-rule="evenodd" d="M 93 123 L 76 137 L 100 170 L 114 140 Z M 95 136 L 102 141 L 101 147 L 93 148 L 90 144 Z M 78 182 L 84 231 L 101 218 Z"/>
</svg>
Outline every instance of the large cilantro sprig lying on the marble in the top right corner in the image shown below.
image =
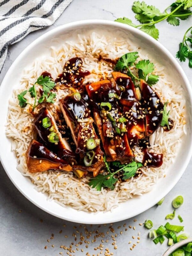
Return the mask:
<svg viewBox="0 0 192 256">
<path fill-rule="evenodd" d="M 180 20 L 186 20 L 192 15 L 190 7 L 192 7 L 192 0 L 177 0 L 169 5 L 164 12 L 160 12 L 158 8 L 147 5 L 144 1 L 134 1 L 132 11 L 135 13 L 135 19 L 141 24 L 136 25 L 126 17 L 118 18 L 115 21 L 139 28 L 157 40 L 159 30 L 155 24 L 166 20 L 170 25 L 179 26 Z"/>
</svg>

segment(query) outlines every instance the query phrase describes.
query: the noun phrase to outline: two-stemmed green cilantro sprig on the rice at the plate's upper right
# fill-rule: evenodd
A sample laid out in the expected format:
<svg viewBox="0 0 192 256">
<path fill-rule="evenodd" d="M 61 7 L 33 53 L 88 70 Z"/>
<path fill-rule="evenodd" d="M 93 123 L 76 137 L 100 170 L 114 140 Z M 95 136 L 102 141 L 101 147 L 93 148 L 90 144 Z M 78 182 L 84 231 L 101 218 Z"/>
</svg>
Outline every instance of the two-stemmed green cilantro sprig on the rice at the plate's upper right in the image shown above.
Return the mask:
<svg viewBox="0 0 192 256">
<path fill-rule="evenodd" d="M 150 60 L 140 60 L 135 64 L 138 58 L 138 52 L 129 52 L 124 54 L 116 63 L 115 70 L 124 71 L 127 70 L 127 75 L 130 76 L 135 82 L 135 80 L 140 81 L 140 79 L 145 80 L 149 85 L 154 85 L 159 81 L 159 76 L 153 73 L 155 66 Z M 131 67 L 135 66 L 138 69 L 138 77 L 135 76 Z"/>
</svg>

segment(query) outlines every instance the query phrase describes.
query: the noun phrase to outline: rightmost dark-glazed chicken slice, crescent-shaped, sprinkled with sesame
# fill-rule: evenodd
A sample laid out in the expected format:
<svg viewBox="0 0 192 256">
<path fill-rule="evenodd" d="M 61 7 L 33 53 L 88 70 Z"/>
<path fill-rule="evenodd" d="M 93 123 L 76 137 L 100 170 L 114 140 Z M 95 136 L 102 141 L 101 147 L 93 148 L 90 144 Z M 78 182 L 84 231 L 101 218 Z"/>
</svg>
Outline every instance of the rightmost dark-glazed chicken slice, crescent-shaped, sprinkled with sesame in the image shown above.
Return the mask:
<svg viewBox="0 0 192 256">
<path fill-rule="evenodd" d="M 145 108 L 145 135 L 150 136 L 161 124 L 164 105 L 158 93 L 155 92 L 144 80 L 141 80 L 140 87 L 142 105 Z"/>
</svg>

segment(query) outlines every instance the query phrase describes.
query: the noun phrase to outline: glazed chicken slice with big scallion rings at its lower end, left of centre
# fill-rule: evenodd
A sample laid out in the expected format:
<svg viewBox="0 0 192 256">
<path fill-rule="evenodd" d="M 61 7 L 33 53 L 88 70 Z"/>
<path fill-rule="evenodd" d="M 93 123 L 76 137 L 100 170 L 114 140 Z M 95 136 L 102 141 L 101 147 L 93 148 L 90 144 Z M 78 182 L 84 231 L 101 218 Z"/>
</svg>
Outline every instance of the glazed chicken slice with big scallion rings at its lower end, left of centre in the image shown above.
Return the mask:
<svg viewBox="0 0 192 256">
<path fill-rule="evenodd" d="M 104 167 L 100 139 L 93 127 L 91 110 L 86 94 L 72 93 L 60 100 L 63 116 L 69 126 L 76 144 L 76 153 L 80 155 L 86 170 L 98 174 Z M 74 166 L 75 168 L 75 166 Z M 77 166 L 79 169 L 79 166 Z"/>
</svg>

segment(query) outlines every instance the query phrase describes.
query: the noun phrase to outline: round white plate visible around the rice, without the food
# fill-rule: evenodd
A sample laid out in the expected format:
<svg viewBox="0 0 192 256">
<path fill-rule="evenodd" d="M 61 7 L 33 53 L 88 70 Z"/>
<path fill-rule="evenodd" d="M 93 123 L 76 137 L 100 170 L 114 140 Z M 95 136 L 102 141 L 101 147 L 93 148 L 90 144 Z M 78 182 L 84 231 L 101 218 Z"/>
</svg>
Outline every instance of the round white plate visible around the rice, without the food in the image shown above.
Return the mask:
<svg viewBox="0 0 192 256">
<path fill-rule="evenodd" d="M 146 51 L 150 49 L 150 53 L 152 53 L 153 57 L 164 65 L 164 67 L 166 67 L 170 79 L 175 81 L 177 84 L 182 84 L 186 93 L 187 115 L 189 115 L 188 113 L 191 113 L 192 103 L 192 90 L 188 79 L 171 53 L 168 52 L 164 46 L 158 43 L 155 39 L 139 29 L 132 28 L 118 22 L 107 20 L 84 20 L 63 25 L 52 29 L 43 36 L 40 36 L 19 55 L 8 70 L 0 86 L 1 162 L 13 184 L 33 204 L 61 219 L 79 223 L 83 222 L 87 224 L 116 222 L 131 218 L 141 212 L 146 211 L 148 208 L 155 205 L 175 186 L 185 171 L 192 154 L 192 134 L 190 132 L 192 130 L 192 124 L 191 121 L 189 121 L 189 116 L 187 116 L 187 120 L 189 121 L 187 122 L 188 134 L 182 141 L 182 150 L 175 159 L 174 164 L 172 164 L 172 166 L 170 166 L 170 168 L 166 171 L 166 178 L 160 179 L 151 192 L 148 192 L 140 197 L 134 197 L 125 203 L 121 203 L 118 208 L 113 210 L 113 212 L 99 212 L 97 214 L 82 211 L 77 212 L 71 207 L 62 207 L 54 201 L 47 201 L 47 195 L 38 193 L 34 189 L 34 185 L 31 183 L 31 181 L 22 176 L 21 173 L 16 169 L 16 157 L 15 154 L 11 152 L 11 141 L 5 136 L 4 124 L 6 123 L 8 100 L 12 95 L 14 86 L 19 83 L 23 69 L 31 64 L 35 58 L 48 53 L 50 46 L 59 46 L 59 44 L 62 44 L 62 40 L 70 39 L 73 35 L 76 35 L 77 31 L 81 32 L 82 30 L 87 32 L 95 29 L 97 31 L 100 30 L 100 32 L 103 34 L 109 31 L 111 33 L 116 33 L 117 30 L 121 30 L 125 36 L 132 40 L 132 42 L 140 45 L 141 49 L 146 49 Z"/>
</svg>

